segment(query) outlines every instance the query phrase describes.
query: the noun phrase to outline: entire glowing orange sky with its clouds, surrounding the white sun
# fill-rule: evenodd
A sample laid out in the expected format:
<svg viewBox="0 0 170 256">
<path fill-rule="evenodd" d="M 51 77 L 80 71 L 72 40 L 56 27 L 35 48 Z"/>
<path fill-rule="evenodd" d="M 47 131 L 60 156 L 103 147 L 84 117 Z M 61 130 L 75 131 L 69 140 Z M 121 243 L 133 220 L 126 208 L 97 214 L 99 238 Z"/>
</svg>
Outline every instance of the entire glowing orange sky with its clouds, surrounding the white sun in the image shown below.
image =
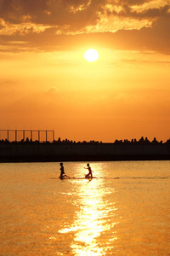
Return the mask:
<svg viewBox="0 0 170 256">
<path fill-rule="evenodd" d="M 170 1 L 0 0 L 0 94 L 0 129 L 166 141 Z"/>
</svg>

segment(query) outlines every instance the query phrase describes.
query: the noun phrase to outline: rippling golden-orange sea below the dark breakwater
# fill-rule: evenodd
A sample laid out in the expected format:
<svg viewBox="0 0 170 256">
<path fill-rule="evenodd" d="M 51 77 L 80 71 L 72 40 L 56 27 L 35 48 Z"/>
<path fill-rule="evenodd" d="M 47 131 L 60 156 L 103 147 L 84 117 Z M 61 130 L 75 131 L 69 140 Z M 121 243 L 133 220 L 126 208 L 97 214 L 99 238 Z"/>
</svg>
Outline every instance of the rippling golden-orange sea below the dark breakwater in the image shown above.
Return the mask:
<svg viewBox="0 0 170 256">
<path fill-rule="evenodd" d="M 170 161 L 0 164 L 0 255 L 170 255 Z"/>
</svg>

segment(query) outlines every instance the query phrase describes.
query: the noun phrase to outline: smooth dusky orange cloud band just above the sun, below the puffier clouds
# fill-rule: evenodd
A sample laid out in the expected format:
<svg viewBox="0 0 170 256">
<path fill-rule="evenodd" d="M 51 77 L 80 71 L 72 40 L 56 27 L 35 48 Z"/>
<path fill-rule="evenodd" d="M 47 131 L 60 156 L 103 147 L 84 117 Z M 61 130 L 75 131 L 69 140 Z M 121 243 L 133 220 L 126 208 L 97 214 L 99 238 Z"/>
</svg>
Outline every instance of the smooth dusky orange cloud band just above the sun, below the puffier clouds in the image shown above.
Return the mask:
<svg viewBox="0 0 170 256">
<path fill-rule="evenodd" d="M 161 18 L 153 22 L 150 27 L 141 29 L 119 30 L 117 32 L 82 33 L 77 35 L 57 35 L 56 28 L 49 28 L 44 32 L 30 32 L 26 35 L 16 33 L 2 36 L 2 43 L 6 50 L 65 50 L 78 47 L 99 45 L 111 49 L 123 50 L 152 50 L 163 54 L 170 54 L 170 19 Z M 17 43 L 18 42 L 18 43 Z M 5 50 L 4 48 L 2 50 Z"/>
</svg>

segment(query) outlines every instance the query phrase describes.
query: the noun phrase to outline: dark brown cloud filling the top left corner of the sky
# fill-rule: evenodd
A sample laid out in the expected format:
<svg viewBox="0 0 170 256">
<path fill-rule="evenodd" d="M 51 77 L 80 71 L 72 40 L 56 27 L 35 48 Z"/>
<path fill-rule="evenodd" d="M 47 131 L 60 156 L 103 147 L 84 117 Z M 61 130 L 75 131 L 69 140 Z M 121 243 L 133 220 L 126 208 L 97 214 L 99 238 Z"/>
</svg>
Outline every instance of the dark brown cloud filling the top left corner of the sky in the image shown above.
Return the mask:
<svg viewBox="0 0 170 256">
<path fill-rule="evenodd" d="M 0 16 L 13 24 L 30 21 L 51 26 L 85 26 L 94 24 L 101 0 L 53 1 L 53 0 L 1 0 Z"/>
</svg>

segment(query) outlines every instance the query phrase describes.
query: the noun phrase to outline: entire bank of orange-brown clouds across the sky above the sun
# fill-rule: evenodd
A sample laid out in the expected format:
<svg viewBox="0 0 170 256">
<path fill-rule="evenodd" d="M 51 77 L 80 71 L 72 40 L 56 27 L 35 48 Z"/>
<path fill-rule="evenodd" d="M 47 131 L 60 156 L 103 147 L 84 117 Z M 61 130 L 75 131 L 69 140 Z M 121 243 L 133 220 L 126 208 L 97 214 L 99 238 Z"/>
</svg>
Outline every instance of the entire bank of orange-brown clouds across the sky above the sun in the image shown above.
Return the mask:
<svg viewBox="0 0 170 256">
<path fill-rule="evenodd" d="M 169 54 L 167 3 L 166 0 L 0 0 L 0 44 L 6 44 L 1 50 L 57 50 L 99 44 L 113 49 L 150 49 Z"/>
</svg>

